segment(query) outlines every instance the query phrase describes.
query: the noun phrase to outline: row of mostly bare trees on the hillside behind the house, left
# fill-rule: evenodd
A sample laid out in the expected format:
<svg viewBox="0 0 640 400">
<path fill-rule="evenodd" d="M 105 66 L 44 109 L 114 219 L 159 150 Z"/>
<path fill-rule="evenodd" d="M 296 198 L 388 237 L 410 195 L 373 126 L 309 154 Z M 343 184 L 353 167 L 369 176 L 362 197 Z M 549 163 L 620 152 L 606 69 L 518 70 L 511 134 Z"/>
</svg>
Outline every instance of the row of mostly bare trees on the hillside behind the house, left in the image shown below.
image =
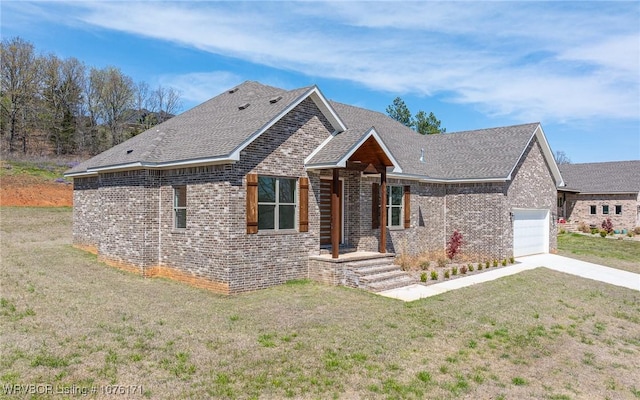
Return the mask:
<svg viewBox="0 0 640 400">
<path fill-rule="evenodd" d="M 37 54 L 20 37 L 0 45 L 0 139 L 9 152 L 97 154 L 161 123 L 180 93 L 134 82 L 119 68 Z"/>
</svg>

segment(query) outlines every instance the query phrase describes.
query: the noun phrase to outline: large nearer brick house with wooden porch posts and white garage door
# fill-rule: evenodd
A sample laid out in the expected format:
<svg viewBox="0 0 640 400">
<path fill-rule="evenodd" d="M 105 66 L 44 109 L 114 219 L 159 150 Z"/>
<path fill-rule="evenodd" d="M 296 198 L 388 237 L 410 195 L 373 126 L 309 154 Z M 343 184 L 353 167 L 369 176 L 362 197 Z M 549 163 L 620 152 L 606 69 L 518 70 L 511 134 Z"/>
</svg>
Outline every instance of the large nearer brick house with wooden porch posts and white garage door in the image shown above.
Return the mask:
<svg viewBox="0 0 640 400">
<path fill-rule="evenodd" d="M 477 259 L 548 252 L 562 185 L 538 123 L 423 136 L 316 86 L 257 82 L 66 175 L 77 247 L 223 293 L 344 284 L 347 250 L 442 251 L 454 230 Z"/>
</svg>

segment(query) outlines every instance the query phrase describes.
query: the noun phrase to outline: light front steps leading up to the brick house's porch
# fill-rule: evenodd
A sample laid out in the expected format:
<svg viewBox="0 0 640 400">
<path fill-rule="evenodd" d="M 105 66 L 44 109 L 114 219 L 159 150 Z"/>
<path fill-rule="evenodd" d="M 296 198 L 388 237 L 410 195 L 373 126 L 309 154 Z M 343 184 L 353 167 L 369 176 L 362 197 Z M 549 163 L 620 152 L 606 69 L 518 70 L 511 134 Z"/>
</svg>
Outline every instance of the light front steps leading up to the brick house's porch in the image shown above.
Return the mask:
<svg viewBox="0 0 640 400">
<path fill-rule="evenodd" d="M 395 289 L 415 283 L 413 278 L 393 263 L 393 258 L 380 257 L 349 262 L 345 265 L 347 286 L 372 292 Z"/>
</svg>

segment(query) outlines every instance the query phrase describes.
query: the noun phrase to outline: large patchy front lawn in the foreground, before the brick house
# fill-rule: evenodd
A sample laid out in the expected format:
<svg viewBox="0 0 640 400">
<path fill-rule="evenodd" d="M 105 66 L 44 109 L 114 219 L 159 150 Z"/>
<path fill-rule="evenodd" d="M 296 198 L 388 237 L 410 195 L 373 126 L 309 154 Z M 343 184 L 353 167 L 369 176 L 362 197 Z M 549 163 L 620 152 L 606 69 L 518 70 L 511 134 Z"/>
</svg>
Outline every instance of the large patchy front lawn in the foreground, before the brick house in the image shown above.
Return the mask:
<svg viewBox="0 0 640 400">
<path fill-rule="evenodd" d="M 225 297 L 101 264 L 71 247 L 70 219 L 0 209 L 0 384 L 154 399 L 639 393 L 636 291 L 539 268 L 412 303 L 309 281 Z"/>
</svg>

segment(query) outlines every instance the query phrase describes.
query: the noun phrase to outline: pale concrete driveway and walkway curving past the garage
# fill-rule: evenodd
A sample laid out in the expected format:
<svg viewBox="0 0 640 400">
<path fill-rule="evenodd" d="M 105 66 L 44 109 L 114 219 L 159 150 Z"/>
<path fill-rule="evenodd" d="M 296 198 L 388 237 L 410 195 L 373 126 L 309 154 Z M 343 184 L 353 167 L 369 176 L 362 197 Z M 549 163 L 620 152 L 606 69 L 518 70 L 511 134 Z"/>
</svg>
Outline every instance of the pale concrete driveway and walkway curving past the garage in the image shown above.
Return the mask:
<svg viewBox="0 0 640 400">
<path fill-rule="evenodd" d="M 415 284 L 397 289 L 385 290 L 378 294 L 403 301 L 414 301 L 448 292 L 449 290 L 460 289 L 477 283 L 492 281 L 494 279 L 538 267 L 546 267 L 554 271 L 564 272 L 582 278 L 593 279 L 611 285 L 640 291 L 640 274 L 634 274 L 633 272 L 605 267 L 604 265 L 592 264 L 555 254 L 536 254 L 533 256 L 518 257 L 516 258 L 516 264 L 505 268 L 466 276 L 464 278 L 457 278 L 442 283 L 435 283 L 429 286 Z"/>
</svg>

